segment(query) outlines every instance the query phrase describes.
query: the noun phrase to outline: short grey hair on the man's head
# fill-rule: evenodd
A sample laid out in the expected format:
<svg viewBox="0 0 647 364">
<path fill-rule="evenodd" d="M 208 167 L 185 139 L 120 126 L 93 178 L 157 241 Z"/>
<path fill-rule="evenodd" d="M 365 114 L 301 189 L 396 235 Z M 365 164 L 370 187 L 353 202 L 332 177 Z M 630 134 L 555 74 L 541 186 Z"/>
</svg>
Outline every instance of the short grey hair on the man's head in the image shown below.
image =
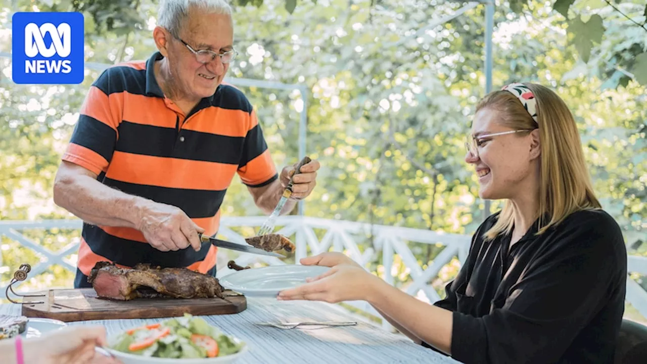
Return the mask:
<svg viewBox="0 0 647 364">
<path fill-rule="evenodd" d="M 227 0 L 161 0 L 157 25 L 179 38 L 180 28 L 189 16 L 189 10 L 198 10 L 201 14 L 224 14 L 232 18 L 232 7 Z M 232 25 L 233 22 L 234 19 Z"/>
</svg>

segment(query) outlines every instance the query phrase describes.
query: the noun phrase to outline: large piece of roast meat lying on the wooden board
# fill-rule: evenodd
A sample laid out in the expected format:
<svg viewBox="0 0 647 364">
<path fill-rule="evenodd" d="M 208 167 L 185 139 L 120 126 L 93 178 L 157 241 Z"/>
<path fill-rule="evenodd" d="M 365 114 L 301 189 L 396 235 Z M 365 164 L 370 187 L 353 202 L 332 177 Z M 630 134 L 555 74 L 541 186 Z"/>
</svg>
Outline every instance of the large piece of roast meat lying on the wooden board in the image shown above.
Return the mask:
<svg viewBox="0 0 647 364">
<path fill-rule="evenodd" d="M 98 262 L 87 281 L 98 297 L 122 301 L 224 298 L 223 287 L 217 278 L 186 268 L 150 267 L 148 264 L 122 268 L 110 262 Z"/>
</svg>

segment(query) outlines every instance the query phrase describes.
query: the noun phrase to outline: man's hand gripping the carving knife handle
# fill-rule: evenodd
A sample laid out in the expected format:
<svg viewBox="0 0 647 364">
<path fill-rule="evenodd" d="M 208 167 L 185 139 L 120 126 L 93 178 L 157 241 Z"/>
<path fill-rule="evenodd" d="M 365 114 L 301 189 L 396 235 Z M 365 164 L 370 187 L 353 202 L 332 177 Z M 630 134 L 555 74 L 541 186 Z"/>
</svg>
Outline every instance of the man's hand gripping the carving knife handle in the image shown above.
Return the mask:
<svg viewBox="0 0 647 364">
<path fill-rule="evenodd" d="M 199 251 L 202 247 L 197 233 L 204 233 L 204 229 L 175 206 L 147 201 L 140 209 L 137 229 L 160 251 L 177 251 L 189 245 Z"/>
</svg>

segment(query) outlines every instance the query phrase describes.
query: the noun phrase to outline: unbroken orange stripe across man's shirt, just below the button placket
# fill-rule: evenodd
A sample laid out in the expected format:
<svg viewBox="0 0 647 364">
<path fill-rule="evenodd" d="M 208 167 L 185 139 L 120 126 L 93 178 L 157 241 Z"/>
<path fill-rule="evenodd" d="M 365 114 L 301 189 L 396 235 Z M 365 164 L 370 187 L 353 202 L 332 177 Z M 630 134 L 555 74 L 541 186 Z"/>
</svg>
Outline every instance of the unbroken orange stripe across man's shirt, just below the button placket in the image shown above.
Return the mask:
<svg viewBox="0 0 647 364">
<path fill-rule="evenodd" d="M 224 163 L 153 157 L 115 151 L 111 168 L 108 168 L 105 176 L 138 185 L 225 190 L 229 187 L 236 168 L 236 165 Z M 169 171 L 176 172 L 169 173 Z"/>
</svg>

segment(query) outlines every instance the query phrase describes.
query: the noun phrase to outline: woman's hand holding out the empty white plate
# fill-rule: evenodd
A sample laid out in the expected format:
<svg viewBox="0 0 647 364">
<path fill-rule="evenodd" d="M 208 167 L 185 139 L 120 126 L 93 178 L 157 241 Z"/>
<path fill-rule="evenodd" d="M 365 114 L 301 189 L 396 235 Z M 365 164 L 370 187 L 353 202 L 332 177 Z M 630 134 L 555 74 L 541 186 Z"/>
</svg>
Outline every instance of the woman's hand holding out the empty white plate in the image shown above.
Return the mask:
<svg viewBox="0 0 647 364">
<path fill-rule="evenodd" d="M 325 301 L 337 303 L 343 301 L 371 301 L 371 295 L 378 294 L 379 284 L 384 283 L 362 267 L 351 264 L 339 264 L 329 271 L 296 288 L 283 290 L 277 299 Z"/>
</svg>

